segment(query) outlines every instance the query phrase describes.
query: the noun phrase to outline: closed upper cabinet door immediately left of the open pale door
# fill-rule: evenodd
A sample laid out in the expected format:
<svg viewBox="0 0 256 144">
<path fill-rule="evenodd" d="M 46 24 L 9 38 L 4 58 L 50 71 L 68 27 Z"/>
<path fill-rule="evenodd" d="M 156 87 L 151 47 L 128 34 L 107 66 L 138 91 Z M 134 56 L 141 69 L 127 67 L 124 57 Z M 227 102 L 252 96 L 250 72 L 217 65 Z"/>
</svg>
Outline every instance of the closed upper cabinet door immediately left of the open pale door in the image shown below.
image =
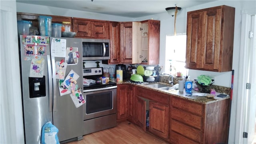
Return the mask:
<svg viewBox="0 0 256 144">
<path fill-rule="evenodd" d="M 132 63 L 132 22 L 120 24 L 120 61 Z"/>
</svg>

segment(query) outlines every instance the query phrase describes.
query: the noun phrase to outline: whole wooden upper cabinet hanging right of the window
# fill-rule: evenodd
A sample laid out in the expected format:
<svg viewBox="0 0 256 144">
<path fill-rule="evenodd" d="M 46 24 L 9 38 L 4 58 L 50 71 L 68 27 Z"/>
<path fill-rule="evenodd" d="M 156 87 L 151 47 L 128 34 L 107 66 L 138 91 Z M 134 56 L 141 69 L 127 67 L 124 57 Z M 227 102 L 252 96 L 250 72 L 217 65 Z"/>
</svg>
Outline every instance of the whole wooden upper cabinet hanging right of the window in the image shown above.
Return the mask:
<svg viewBox="0 0 256 144">
<path fill-rule="evenodd" d="M 235 8 L 217 6 L 188 12 L 186 68 L 232 70 Z"/>
</svg>

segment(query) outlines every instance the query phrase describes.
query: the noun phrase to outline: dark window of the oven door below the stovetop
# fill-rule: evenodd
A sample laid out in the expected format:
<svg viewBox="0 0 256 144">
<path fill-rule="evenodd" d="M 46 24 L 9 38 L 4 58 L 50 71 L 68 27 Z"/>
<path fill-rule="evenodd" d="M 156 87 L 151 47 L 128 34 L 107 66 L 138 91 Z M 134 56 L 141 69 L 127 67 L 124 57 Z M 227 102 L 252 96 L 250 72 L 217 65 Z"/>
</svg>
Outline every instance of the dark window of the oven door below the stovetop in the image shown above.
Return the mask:
<svg viewBox="0 0 256 144">
<path fill-rule="evenodd" d="M 111 110 L 113 108 L 113 93 L 102 92 L 86 95 L 86 114 Z"/>
</svg>

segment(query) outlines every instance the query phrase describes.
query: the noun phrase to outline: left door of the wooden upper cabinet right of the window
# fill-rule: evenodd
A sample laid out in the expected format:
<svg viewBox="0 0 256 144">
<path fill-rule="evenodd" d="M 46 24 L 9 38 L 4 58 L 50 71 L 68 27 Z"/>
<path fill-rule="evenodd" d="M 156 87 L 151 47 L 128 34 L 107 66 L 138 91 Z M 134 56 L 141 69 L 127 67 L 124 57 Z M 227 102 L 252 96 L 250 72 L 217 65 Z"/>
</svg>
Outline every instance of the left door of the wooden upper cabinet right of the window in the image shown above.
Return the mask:
<svg viewBox="0 0 256 144">
<path fill-rule="evenodd" d="M 188 13 L 186 68 L 200 69 L 202 66 L 202 19 L 203 12 Z"/>
</svg>

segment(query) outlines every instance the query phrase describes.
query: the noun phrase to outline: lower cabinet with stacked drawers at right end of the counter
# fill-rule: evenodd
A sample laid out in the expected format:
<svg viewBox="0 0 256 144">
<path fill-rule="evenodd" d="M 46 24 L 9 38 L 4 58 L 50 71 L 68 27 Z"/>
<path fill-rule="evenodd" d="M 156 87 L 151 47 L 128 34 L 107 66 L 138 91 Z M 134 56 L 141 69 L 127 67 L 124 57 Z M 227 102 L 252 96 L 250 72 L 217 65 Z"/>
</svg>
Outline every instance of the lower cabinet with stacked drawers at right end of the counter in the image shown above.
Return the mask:
<svg viewBox="0 0 256 144">
<path fill-rule="evenodd" d="M 171 143 L 227 143 L 229 99 L 200 104 L 171 97 Z"/>
</svg>

